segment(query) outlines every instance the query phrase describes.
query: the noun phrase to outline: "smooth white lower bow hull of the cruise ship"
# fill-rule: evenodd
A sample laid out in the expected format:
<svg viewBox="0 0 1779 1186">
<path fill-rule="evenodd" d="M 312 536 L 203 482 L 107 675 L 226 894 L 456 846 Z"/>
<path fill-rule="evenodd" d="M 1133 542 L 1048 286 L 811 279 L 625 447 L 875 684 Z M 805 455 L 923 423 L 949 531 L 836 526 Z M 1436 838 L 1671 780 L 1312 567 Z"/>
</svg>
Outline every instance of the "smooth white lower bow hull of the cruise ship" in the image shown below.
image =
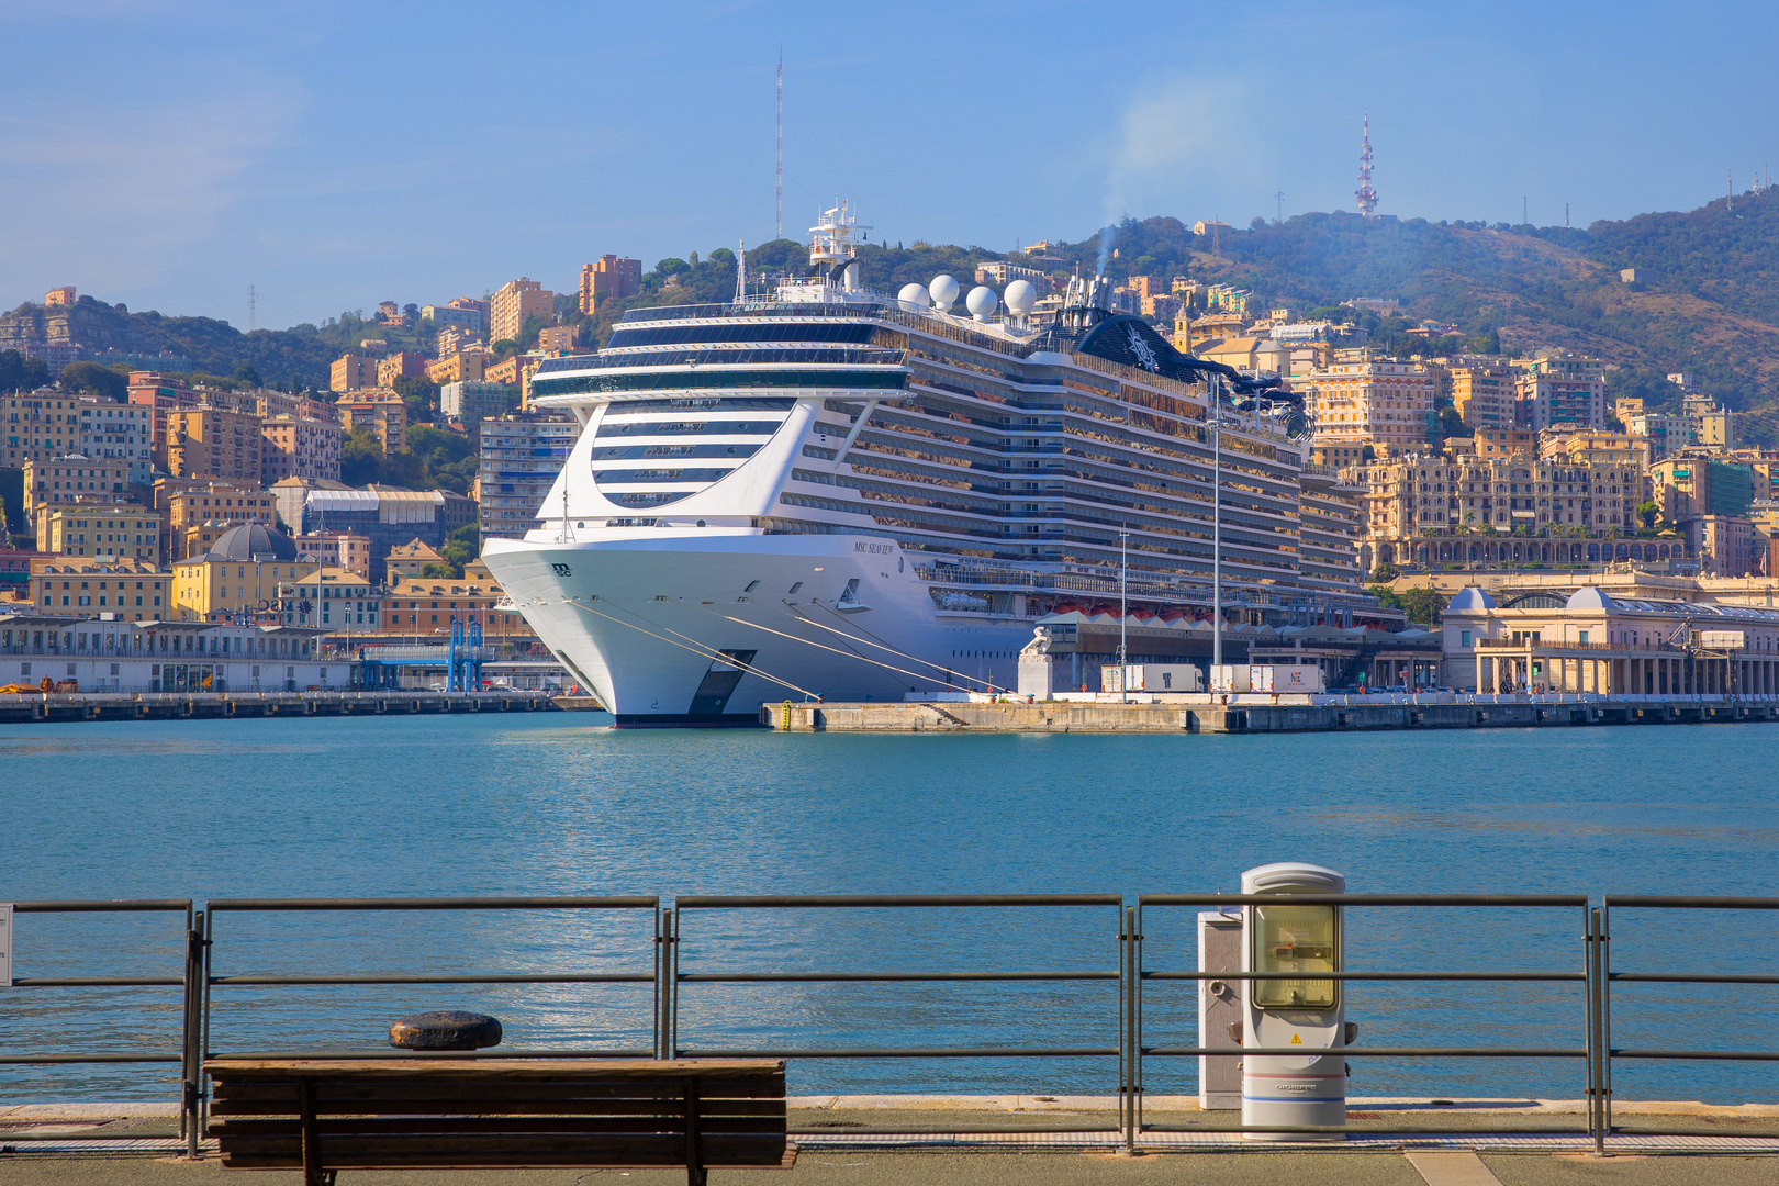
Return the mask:
<svg viewBox="0 0 1779 1186">
<path fill-rule="evenodd" d="M 496 539 L 484 560 L 621 725 L 754 724 L 760 704 L 786 699 L 1009 686 L 1032 640 L 1030 622 L 938 608 L 882 537 L 610 535 Z"/>
</svg>

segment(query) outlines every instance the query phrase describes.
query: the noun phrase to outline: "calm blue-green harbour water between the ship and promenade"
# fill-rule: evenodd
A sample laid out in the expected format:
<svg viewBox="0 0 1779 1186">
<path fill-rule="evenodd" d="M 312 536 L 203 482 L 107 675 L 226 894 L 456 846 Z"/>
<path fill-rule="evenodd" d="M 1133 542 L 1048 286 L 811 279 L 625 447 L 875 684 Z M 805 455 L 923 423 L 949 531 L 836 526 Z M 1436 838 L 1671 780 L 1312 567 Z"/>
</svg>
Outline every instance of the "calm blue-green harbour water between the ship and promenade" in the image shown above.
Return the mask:
<svg viewBox="0 0 1779 1186">
<path fill-rule="evenodd" d="M 0 725 L 0 902 L 455 894 L 1235 893 L 1313 861 L 1356 893 L 1779 894 L 1779 725 L 1370 736 L 811 736 L 585 715 Z M 20 916 L 18 976 L 165 974 L 183 919 Z M 1614 916 L 1617 971 L 1779 973 L 1779 918 Z M 648 973 L 651 912 L 219 914 L 215 974 Z M 1578 971 L 1580 910 L 1354 910 L 1348 967 Z M 1194 967 L 1151 909 L 1149 969 Z M 688 910 L 681 973 L 1114 971 L 1096 909 Z M 1149 982 L 1149 1046 L 1194 1044 Z M 215 989 L 213 1051 L 374 1049 L 418 1008 L 507 1046 L 642 1049 L 648 985 Z M 1779 1047 L 1772 987 L 1621 985 L 1614 1044 Z M 687 983 L 680 1046 L 1115 1042 L 1107 982 Z M 1580 1047 L 1580 985 L 1352 985 L 1361 1046 Z M 1674 1022 L 1672 1026 L 1669 1022 Z M 178 1046 L 176 990 L 0 989 L 0 1054 Z M 1582 1094 L 1578 1060 L 1354 1058 L 1354 1095 Z M 1621 1063 L 1621 1099 L 1779 1101 L 1772 1063 Z M 1149 1060 L 1149 1092 L 1195 1090 Z M 5 1069 L 0 1102 L 167 1094 Z M 799 1092 L 1092 1092 L 1112 1058 L 808 1060 Z"/>
</svg>

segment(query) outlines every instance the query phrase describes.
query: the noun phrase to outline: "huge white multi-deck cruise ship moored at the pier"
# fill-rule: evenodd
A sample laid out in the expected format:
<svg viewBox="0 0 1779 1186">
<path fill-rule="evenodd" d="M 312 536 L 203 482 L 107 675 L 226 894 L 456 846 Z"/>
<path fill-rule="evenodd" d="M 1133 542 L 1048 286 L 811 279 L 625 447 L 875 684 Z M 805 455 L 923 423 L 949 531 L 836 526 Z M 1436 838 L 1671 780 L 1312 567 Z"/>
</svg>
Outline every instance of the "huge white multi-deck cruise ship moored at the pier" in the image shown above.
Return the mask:
<svg viewBox="0 0 1779 1186">
<path fill-rule="evenodd" d="M 1276 377 L 1178 352 L 1099 276 L 1050 313 L 1025 281 L 872 292 L 861 229 L 838 204 L 808 276 L 632 309 L 532 379 L 580 436 L 484 560 L 619 725 L 996 692 L 1046 615 L 1206 621 L 1213 537 L 1226 621 L 1368 601 Z"/>
</svg>

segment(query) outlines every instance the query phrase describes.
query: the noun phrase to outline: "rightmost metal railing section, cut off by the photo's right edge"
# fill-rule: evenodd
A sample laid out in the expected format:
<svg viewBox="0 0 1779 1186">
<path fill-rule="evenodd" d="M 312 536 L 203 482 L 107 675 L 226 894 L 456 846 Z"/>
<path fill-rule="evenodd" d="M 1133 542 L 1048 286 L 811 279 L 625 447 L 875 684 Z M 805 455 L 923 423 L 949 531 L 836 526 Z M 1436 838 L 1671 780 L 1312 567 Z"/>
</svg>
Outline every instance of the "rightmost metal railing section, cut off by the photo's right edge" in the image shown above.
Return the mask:
<svg viewBox="0 0 1779 1186">
<path fill-rule="evenodd" d="M 1637 1049 L 1612 1046 L 1612 987 L 1615 983 L 1669 983 L 1669 985 L 1779 985 L 1779 974 L 1768 973 L 1615 973 L 1612 971 L 1612 912 L 1614 910 L 1779 910 L 1779 898 L 1697 898 L 1658 894 L 1606 894 L 1594 910 L 1598 930 L 1599 999 L 1592 1026 L 1599 1040 L 1601 1115 L 1596 1149 L 1606 1136 L 1722 1136 L 1722 1129 L 1638 1126 L 1628 1127 L 1612 1118 L 1612 1063 L 1614 1060 L 1679 1060 L 1679 1062 L 1779 1062 L 1779 1049 Z"/>
</svg>

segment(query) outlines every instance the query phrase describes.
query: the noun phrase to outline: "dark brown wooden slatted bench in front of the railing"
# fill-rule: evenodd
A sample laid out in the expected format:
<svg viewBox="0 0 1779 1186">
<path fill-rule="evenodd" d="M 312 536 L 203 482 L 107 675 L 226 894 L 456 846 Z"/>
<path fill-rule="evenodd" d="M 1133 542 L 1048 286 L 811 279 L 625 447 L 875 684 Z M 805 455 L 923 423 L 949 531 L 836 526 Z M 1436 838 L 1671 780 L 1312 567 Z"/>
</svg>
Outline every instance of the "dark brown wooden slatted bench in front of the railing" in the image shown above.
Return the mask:
<svg viewBox="0 0 1779 1186">
<path fill-rule="evenodd" d="M 785 1063 L 222 1058 L 210 1136 L 237 1170 L 790 1168 Z"/>
</svg>

